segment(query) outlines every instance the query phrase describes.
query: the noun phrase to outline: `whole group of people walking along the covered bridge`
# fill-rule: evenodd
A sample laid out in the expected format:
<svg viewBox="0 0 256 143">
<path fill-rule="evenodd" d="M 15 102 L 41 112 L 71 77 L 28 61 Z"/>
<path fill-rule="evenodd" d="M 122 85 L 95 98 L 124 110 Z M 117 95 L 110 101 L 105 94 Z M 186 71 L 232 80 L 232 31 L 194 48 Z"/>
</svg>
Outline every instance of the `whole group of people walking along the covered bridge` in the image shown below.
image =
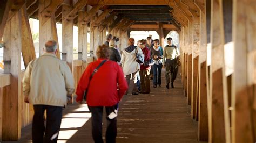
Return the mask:
<svg viewBox="0 0 256 143">
<path fill-rule="evenodd" d="M 97 61 L 90 63 L 80 78 L 76 89 L 76 101 L 82 103 L 84 97 L 92 113 L 92 137 L 95 142 L 102 139 L 102 116 L 105 107 L 107 116 L 106 142 L 116 142 L 118 104 L 128 94 L 132 81 L 132 95 L 150 93 L 150 73 L 153 73 L 153 87 L 161 87 L 161 69 L 165 70 L 166 88 L 174 88 L 179 51 L 167 38 L 168 45 L 159 46 L 159 40 L 137 41 L 129 38 L 129 46 L 120 52 L 117 47 L 119 38 L 111 34 L 97 48 Z M 66 96 L 75 90 L 72 73 L 64 61 L 59 60 L 57 43 L 49 40 L 45 43 L 45 54 L 32 60 L 26 68 L 23 78 L 25 102 L 31 103 L 35 111 L 32 123 L 33 142 L 57 142 L 62 108 L 66 105 Z M 143 62 L 138 63 L 140 57 Z M 171 77 L 171 80 L 170 80 Z M 137 80 L 140 79 L 140 91 Z M 105 81 L 105 82 L 103 82 Z M 44 126 L 44 111 L 47 124 Z"/>
</svg>

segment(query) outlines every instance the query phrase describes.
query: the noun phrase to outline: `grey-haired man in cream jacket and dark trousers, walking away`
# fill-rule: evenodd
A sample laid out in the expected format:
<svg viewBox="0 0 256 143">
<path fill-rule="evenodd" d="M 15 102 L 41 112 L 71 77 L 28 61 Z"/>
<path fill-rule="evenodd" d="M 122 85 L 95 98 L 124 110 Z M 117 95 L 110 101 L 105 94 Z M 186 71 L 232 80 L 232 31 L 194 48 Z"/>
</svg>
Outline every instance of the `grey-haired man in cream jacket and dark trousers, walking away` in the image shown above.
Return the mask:
<svg viewBox="0 0 256 143">
<path fill-rule="evenodd" d="M 62 108 L 74 91 L 70 68 L 55 55 L 56 41 L 45 43 L 45 54 L 32 60 L 23 77 L 24 101 L 33 105 L 33 142 L 57 142 Z M 44 111 L 47 124 L 44 127 Z M 45 134 L 44 134 L 45 133 Z"/>
</svg>

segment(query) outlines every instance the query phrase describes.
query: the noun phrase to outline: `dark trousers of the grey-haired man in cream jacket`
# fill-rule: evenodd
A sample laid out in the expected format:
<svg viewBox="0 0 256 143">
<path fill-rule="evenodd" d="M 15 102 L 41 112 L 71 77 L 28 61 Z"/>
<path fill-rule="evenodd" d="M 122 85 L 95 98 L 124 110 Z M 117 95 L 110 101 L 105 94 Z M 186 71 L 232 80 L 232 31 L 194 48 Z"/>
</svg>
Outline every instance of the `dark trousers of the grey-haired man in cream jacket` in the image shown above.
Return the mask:
<svg viewBox="0 0 256 143">
<path fill-rule="evenodd" d="M 33 142 L 57 142 L 59 128 L 62 122 L 62 107 L 49 105 L 33 105 L 33 109 L 35 111 L 32 123 Z M 46 128 L 44 126 L 45 110 Z"/>
</svg>

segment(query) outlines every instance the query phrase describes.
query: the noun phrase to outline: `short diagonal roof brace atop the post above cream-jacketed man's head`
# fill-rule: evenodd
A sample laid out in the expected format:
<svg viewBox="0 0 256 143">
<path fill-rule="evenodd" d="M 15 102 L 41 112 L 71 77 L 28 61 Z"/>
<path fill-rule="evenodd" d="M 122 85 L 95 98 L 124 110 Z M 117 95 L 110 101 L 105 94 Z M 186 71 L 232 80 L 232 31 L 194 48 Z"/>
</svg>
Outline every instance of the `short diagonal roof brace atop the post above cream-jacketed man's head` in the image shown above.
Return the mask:
<svg viewBox="0 0 256 143">
<path fill-rule="evenodd" d="M 64 0 L 51 1 L 51 4 L 48 5 L 43 11 L 40 12 L 40 15 L 42 17 L 45 17 L 42 19 L 42 25 L 51 17 L 52 14 L 55 13 L 57 6 L 62 4 L 63 1 Z M 39 4 L 41 4 L 41 3 L 39 3 Z"/>
</svg>

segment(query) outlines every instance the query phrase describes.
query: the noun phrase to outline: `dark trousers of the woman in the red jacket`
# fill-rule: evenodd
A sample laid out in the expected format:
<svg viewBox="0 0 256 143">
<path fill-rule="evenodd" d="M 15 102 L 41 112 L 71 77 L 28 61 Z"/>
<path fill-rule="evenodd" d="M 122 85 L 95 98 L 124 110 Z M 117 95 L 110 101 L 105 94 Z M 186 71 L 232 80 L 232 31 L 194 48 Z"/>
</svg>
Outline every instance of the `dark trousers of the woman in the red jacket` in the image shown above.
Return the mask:
<svg viewBox="0 0 256 143">
<path fill-rule="evenodd" d="M 92 113 L 92 137 L 95 143 L 103 143 L 102 139 L 102 113 L 103 106 L 89 106 L 90 112 Z M 108 116 L 110 113 L 117 109 L 117 106 L 105 107 L 106 119 L 107 119 L 107 130 L 106 130 L 106 142 L 114 143 L 117 137 L 117 118 L 110 119 Z"/>
</svg>

